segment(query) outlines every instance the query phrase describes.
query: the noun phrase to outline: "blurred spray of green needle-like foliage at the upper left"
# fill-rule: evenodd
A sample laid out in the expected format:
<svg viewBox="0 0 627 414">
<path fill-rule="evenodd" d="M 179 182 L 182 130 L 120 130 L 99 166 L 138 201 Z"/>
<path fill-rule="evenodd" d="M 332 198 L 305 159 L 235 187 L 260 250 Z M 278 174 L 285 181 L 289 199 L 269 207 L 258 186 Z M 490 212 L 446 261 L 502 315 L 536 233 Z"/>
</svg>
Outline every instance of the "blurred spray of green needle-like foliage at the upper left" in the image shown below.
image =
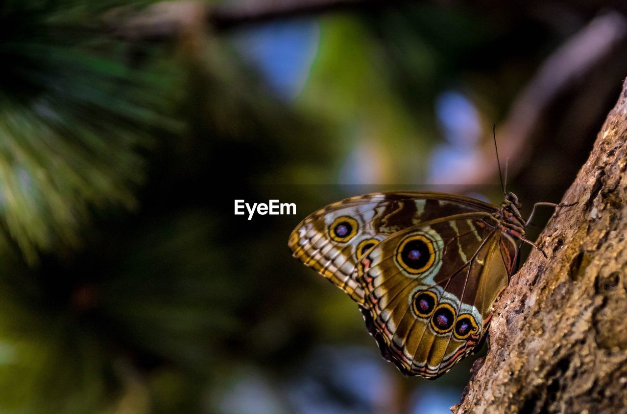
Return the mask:
<svg viewBox="0 0 627 414">
<path fill-rule="evenodd" d="M 172 70 L 156 56 L 129 65 L 141 46 L 87 27 L 103 7 L 0 8 L 0 210 L 31 263 L 76 246 L 91 209 L 136 207 L 150 135 L 176 127 Z"/>
</svg>

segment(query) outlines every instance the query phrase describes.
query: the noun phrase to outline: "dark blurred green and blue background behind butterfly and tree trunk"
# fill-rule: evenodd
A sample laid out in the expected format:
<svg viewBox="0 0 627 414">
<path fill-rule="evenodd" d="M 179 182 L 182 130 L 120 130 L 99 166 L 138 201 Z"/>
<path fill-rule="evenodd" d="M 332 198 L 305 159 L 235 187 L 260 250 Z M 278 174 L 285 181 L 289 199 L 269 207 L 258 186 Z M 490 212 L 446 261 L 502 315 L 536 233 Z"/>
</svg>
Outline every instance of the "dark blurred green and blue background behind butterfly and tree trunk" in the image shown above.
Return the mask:
<svg viewBox="0 0 627 414">
<path fill-rule="evenodd" d="M 0 411 L 448 412 L 476 357 L 404 378 L 288 235 L 374 190 L 500 203 L 494 123 L 523 214 L 559 202 L 627 76 L 625 13 L 0 1 Z"/>
</svg>

